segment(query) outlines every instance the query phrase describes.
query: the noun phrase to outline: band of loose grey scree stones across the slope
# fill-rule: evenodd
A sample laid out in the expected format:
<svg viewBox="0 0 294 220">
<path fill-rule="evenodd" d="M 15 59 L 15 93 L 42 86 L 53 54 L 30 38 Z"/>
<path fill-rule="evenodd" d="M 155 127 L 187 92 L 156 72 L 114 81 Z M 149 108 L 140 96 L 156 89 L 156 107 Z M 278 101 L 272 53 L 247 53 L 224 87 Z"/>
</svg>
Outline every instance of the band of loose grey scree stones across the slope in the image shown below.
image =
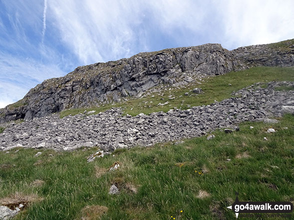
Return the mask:
<svg viewBox="0 0 294 220">
<path fill-rule="evenodd" d="M 235 126 L 241 121 L 272 121 L 270 116 L 294 113 L 294 90 L 276 91 L 276 86 L 294 82 L 257 83 L 231 97 L 206 106 L 187 110 L 122 116 L 119 108 L 95 115 L 77 114 L 62 119 L 57 114 L 34 118 L 23 123 L 8 123 L 0 133 L 0 150 L 11 148 L 54 148 L 73 150 L 81 146 L 99 146 L 104 151 L 178 140 L 205 135 L 216 128 Z M 232 130 L 231 130 L 232 131 Z"/>
</svg>

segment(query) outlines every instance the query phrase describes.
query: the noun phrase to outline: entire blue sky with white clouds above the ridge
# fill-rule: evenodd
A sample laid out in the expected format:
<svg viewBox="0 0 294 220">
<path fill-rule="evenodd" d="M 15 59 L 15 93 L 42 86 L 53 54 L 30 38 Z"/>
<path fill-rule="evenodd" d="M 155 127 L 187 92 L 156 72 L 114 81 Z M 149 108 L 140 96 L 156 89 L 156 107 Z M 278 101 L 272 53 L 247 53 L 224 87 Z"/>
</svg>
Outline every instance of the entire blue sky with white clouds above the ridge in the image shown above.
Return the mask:
<svg viewBox="0 0 294 220">
<path fill-rule="evenodd" d="M 294 38 L 293 0 L 0 0 L 0 108 L 77 66 Z"/>
</svg>

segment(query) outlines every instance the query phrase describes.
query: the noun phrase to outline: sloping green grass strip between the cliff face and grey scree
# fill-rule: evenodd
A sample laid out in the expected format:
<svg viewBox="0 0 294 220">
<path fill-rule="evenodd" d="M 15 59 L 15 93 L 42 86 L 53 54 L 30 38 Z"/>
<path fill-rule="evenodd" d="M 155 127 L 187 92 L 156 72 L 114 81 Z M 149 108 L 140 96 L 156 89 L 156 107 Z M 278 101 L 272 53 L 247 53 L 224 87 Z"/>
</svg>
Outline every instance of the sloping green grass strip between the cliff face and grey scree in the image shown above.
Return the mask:
<svg viewBox="0 0 294 220">
<path fill-rule="evenodd" d="M 269 82 L 269 81 L 294 81 L 294 68 L 293 67 L 254 67 L 238 72 L 229 72 L 224 75 L 219 75 L 206 79 L 200 85 L 191 85 L 185 89 L 174 89 L 166 90 L 163 96 L 154 94 L 144 98 L 136 98 L 125 102 L 113 104 L 106 104 L 101 107 L 92 107 L 87 110 L 96 110 L 97 113 L 100 111 L 105 111 L 111 107 L 123 107 L 124 112 L 137 115 L 141 112 L 149 114 L 155 111 L 168 111 L 171 108 L 177 107 L 182 109 L 187 109 L 189 106 L 197 106 L 202 104 L 211 104 L 214 100 L 221 101 L 225 98 L 231 97 L 233 91 L 237 91 L 243 87 L 251 85 L 256 82 Z M 231 85 L 229 85 L 231 84 Z M 184 95 L 185 92 L 194 87 L 201 87 L 204 91 L 203 94 L 199 95 Z M 190 92 L 190 94 L 193 94 Z M 175 97 L 174 99 L 169 99 L 169 95 Z M 152 101 L 152 102 L 151 102 Z M 164 106 L 157 106 L 159 102 L 164 103 L 169 101 L 168 104 Z M 150 107 L 149 107 L 150 106 Z M 60 113 L 61 117 L 67 116 L 69 114 L 75 115 L 85 111 L 85 108 L 79 109 L 69 109 L 62 111 Z"/>
</svg>

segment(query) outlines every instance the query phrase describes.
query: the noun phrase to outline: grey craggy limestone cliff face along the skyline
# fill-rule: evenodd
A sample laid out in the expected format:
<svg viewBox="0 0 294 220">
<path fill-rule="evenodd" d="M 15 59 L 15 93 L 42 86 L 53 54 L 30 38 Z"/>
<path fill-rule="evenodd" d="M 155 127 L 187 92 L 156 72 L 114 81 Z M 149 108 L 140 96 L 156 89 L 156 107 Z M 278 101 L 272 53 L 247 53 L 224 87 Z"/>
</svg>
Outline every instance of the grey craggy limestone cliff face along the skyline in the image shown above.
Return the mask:
<svg viewBox="0 0 294 220">
<path fill-rule="evenodd" d="M 259 65 L 294 66 L 294 40 L 231 51 L 220 44 L 171 48 L 80 66 L 64 77 L 45 80 L 22 100 L 0 109 L 0 122 L 120 101 L 161 83 L 177 85 L 201 75 L 219 75 Z"/>
</svg>

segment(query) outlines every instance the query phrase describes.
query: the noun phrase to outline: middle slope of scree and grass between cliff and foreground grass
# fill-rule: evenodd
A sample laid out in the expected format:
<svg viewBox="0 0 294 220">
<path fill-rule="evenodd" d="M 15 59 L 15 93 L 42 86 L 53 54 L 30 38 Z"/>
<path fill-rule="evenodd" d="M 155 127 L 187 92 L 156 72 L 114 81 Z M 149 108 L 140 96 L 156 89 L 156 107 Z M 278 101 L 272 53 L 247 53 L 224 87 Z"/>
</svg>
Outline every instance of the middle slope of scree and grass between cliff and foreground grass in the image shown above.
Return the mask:
<svg viewBox="0 0 294 220">
<path fill-rule="evenodd" d="M 53 114 L 8 123 L 0 133 L 0 150 L 99 146 L 112 152 L 205 135 L 217 128 L 234 128 L 242 121 L 263 121 L 293 112 L 293 81 L 293 67 L 254 67 L 212 77 L 198 85 L 203 88 L 199 94 L 189 88 L 171 89 L 163 96 L 119 103 L 118 108 L 106 105 L 111 109 L 104 112 L 83 109 L 63 118 Z M 280 87 L 289 90 L 277 90 Z"/>
</svg>

